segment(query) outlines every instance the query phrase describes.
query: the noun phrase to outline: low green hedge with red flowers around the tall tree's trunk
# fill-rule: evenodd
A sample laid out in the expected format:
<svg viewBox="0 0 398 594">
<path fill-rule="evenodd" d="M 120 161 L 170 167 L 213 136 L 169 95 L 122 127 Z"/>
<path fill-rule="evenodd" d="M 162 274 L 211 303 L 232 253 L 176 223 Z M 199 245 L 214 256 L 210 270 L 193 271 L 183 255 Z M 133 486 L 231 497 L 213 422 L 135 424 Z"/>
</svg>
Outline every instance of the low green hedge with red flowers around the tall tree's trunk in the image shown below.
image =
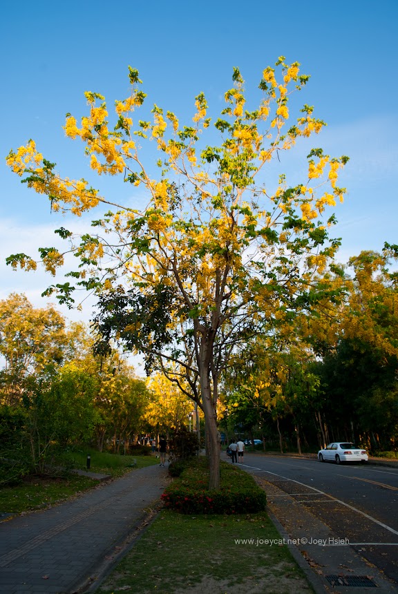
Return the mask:
<svg viewBox="0 0 398 594">
<path fill-rule="evenodd" d="M 184 514 L 240 514 L 265 510 L 265 492 L 253 477 L 236 466 L 220 462 L 220 490 L 210 491 L 208 482 L 207 459 L 192 459 L 164 490 L 164 507 Z"/>
</svg>

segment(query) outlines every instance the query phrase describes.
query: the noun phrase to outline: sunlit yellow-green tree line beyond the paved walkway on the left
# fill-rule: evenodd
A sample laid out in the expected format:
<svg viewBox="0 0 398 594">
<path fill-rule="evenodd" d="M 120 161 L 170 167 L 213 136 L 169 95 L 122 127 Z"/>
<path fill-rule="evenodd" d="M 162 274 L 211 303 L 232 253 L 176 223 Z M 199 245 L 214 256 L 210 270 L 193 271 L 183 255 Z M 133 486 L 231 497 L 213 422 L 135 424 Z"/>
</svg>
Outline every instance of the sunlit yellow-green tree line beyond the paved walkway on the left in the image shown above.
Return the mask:
<svg viewBox="0 0 398 594">
<path fill-rule="evenodd" d="M 117 351 L 93 354 L 82 323 L 23 294 L 0 301 L 0 457 L 15 476 L 42 472 L 57 452 L 92 446 L 129 453 L 187 421 L 190 401 L 158 374 L 136 376 Z"/>
</svg>

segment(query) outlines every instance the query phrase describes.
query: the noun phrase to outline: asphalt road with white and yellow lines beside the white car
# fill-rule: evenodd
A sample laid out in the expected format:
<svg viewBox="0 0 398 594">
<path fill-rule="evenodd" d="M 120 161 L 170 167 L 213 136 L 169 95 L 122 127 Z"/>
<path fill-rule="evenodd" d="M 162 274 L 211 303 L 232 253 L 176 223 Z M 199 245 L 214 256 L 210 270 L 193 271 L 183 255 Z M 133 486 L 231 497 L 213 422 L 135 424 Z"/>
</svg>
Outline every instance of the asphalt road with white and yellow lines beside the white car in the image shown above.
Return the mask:
<svg viewBox="0 0 398 594">
<path fill-rule="evenodd" d="M 398 468 L 269 454 L 245 454 L 244 462 L 398 584 Z"/>
</svg>

